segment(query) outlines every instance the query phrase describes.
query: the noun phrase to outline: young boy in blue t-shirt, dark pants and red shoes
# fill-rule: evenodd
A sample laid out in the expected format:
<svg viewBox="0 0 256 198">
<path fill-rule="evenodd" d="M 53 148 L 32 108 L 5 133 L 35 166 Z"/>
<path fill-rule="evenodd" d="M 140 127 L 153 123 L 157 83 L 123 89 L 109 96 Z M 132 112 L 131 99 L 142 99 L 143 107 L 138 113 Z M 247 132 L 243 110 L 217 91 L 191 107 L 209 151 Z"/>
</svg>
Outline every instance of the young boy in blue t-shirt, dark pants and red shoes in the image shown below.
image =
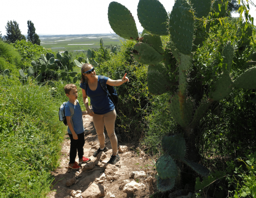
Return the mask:
<svg viewBox="0 0 256 198">
<path fill-rule="evenodd" d="M 80 166 L 75 161 L 76 153 L 78 153 L 79 164 L 90 161 L 90 159 L 83 157 L 83 145 L 85 145 L 85 133 L 83 128 L 82 115 L 86 115 L 86 111 L 82 111 L 77 101 L 76 85 L 68 84 L 64 87 L 66 96 L 69 98 L 68 102 L 74 108 L 74 115 L 71 120 L 70 107 L 65 106 L 65 116 L 67 119 L 67 132 L 70 136 L 70 162 L 68 168 L 79 169 Z"/>
</svg>

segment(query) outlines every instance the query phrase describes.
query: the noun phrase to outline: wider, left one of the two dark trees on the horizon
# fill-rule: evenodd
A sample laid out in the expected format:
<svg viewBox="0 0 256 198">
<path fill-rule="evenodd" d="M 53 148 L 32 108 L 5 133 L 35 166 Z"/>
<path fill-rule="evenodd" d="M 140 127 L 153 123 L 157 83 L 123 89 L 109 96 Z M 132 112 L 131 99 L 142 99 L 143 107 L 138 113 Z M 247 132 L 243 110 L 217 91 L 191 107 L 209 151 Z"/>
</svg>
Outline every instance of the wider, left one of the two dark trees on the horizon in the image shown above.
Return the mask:
<svg viewBox="0 0 256 198">
<path fill-rule="evenodd" d="M 26 37 L 21 34 L 21 30 L 19 29 L 19 24 L 16 21 L 8 21 L 6 26 L 6 34 L 4 36 L 7 42 L 14 43 L 15 41 L 26 40 Z"/>
</svg>

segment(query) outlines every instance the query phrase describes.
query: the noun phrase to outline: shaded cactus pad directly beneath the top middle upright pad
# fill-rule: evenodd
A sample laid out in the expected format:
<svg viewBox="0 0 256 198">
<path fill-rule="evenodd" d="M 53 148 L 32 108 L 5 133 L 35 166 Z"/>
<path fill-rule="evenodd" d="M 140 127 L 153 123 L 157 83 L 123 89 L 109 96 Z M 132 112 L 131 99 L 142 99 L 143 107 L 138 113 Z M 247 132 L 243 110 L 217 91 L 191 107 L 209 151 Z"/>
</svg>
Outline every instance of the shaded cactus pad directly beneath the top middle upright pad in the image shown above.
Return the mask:
<svg viewBox="0 0 256 198">
<path fill-rule="evenodd" d="M 155 34 L 144 34 L 142 43 L 149 44 L 157 52 L 159 52 L 161 55 L 163 55 L 164 48 L 163 48 L 163 44 L 162 44 L 160 36 L 155 35 Z"/>
</svg>

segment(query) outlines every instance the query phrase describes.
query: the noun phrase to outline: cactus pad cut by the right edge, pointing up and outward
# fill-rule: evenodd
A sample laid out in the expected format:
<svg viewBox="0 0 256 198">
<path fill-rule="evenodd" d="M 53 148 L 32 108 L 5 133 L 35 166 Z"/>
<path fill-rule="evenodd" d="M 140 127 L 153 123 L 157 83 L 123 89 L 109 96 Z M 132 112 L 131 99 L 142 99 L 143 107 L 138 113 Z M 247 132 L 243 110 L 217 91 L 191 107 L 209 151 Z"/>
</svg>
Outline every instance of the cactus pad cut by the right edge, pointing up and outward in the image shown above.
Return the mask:
<svg viewBox="0 0 256 198">
<path fill-rule="evenodd" d="M 240 75 L 233 83 L 234 87 L 255 89 L 256 88 L 256 67 L 249 68 Z"/>
</svg>

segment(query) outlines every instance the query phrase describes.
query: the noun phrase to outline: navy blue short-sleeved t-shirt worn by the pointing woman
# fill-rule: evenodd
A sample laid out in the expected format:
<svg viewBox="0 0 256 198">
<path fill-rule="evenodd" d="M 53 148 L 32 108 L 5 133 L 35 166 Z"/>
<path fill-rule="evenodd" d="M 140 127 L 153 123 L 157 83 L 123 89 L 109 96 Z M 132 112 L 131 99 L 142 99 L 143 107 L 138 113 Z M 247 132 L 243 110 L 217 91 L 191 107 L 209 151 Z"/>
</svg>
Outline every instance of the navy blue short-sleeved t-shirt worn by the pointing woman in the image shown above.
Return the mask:
<svg viewBox="0 0 256 198">
<path fill-rule="evenodd" d="M 107 83 L 108 79 L 108 77 L 104 78 L 105 83 Z M 88 84 L 85 84 L 85 82 L 80 83 L 80 87 L 83 90 L 85 90 L 86 87 L 86 93 L 87 96 L 90 97 L 92 110 L 94 113 L 102 115 L 114 110 L 114 103 L 110 100 L 109 96 L 107 96 L 107 93 L 102 89 L 100 85 L 100 76 L 98 76 L 98 85 L 95 91 L 92 91 Z"/>
</svg>

